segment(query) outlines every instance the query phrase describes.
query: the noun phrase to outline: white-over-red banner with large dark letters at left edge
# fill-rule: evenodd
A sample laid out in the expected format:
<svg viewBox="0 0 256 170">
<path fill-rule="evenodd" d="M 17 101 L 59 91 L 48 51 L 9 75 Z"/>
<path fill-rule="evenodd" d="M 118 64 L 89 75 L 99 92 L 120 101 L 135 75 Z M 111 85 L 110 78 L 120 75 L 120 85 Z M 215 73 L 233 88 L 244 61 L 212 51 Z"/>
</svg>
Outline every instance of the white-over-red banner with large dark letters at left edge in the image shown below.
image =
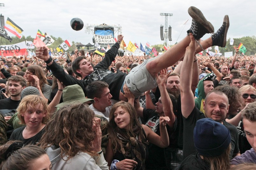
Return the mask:
<svg viewBox="0 0 256 170">
<path fill-rule="evenodd" d="M 12 50 L 14 50 L 14 53 L 17 56 L 27 54 L 25 41 L 19 42 L 17 44 L 12 44 L 12 45 L 1 45 L 0 50 L 4 51 L 3 55 L 6 56 L 6 57 L 9 57 L 9 56 L 13 55 L 13 53 L 11 52 Z"/>
</svg>

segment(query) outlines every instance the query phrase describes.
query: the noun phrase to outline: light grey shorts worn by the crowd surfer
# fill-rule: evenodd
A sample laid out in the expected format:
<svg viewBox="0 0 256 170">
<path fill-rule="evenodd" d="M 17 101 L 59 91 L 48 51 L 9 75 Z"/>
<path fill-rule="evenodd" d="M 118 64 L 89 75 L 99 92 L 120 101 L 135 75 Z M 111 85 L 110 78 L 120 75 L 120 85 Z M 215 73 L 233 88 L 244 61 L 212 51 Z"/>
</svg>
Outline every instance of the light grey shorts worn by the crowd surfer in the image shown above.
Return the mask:
<svg viewBox="0 0 256 170">
<path fill-rule="evenodd" d="M 146 68 L 147 63 L 155 59 L 156 57 L 144 61 L 141 65 L 134 67 L 125 77 L 124 82 L 135 98 L 141 96 L 145 91 L 156 88 L 156 78 L 153 78 Z"/>
</svg>

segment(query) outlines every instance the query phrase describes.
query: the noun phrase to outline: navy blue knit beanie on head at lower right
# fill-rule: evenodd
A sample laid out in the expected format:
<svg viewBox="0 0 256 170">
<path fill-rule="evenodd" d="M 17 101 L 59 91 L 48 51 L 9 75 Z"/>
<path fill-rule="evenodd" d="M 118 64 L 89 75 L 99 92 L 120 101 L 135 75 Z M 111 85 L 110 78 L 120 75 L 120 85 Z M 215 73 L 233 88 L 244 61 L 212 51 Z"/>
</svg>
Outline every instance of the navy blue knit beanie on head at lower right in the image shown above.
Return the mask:
<svg viewBox="0 0 256 170">
<path fill-rule="evenodd" d="M 194 143 L 197 152 L 206 157 L 220 156 L 231 142 L 229 130 L 210 118 L 197 121 L 194 128 Z"/>
</svg>

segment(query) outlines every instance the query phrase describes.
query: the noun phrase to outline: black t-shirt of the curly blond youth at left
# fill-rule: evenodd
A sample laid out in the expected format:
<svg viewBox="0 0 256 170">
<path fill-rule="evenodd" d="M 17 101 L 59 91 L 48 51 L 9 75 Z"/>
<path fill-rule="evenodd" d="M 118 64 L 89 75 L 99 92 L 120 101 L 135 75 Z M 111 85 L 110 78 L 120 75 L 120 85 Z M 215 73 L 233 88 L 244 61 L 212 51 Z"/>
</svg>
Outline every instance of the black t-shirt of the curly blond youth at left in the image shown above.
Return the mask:
<svg viewBox="0 0 256 170">
<path fill-rule="evenodd" d="M 45 127 L 40 132 L 38 132 L 36 135 L 34 135 L 33 137 L 28 138 L 28 139 L 24 139 L 24 137 L 22 135 L 22 132 L 25 129 L 25 127 L 26 126 L 22 126 L 20 128 L 15 129 L 12 132 L 11 136 L 10 136 L 10 141 L 12 141 L 12 140 L 22 141 L 24 143 L 24 145 L 28 145 L 28 144 L 34 145 L 34 144 L 37 144 L 40 141 L 42 135 L 45 132 L 44 131 Z"/>
</svg>

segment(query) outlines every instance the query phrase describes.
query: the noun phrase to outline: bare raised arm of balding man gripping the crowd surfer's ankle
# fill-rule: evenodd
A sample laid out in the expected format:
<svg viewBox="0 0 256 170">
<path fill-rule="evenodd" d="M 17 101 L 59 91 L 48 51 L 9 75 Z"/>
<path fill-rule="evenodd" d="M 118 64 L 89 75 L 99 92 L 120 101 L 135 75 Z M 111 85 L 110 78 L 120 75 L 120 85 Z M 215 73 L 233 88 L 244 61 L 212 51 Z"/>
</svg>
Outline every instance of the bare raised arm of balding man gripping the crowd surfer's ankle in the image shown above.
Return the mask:
<svg viewBox="0 0 256 170">
<path fill-rule="evenodd" d="M 180 72 L 180 93 L 181 93 L 181 112 L 187 118 L 195 107 L 194 94 L 191 90 L 192 67 L 194 62 L 194 53 L 196 51 L 196 41 L 190 33 L 190 44 L 186 48 Z"/>
</svg>

